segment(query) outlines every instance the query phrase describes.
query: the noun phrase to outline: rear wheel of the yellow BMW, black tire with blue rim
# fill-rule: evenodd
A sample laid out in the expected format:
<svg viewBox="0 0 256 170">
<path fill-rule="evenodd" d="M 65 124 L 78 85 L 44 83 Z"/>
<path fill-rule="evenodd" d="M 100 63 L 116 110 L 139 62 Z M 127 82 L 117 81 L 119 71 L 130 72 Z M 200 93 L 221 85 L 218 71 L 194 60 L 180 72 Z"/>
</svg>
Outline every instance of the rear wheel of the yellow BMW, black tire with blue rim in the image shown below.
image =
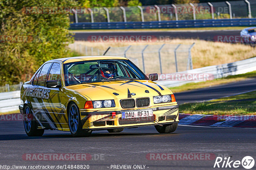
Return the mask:
<svg viewBox="0 0 256 170">
<path fill-rule="evenodd" d="M 42 136 L 44 129 L 37 129 L 36 120 L 33 118 L 32 110 L 28 105 L 24 107 L 23 124 L 28 136 Z"/>
</svg>

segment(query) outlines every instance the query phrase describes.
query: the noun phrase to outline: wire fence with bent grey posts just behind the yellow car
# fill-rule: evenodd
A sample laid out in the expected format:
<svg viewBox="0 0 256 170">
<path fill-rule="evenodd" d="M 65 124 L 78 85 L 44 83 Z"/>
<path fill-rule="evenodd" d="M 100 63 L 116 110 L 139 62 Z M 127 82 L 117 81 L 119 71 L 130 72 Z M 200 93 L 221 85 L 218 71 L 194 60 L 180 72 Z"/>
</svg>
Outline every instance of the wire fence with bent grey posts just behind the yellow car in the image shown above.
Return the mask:
<svg viewBox="0 0 256 170">
<path fill-rule="evenodd" d="M 127 57 L 146 74 L 175 73 L 193 68 L 191 49 L 194 44 L 110 47 L 105 55 Z M 106 49 L 100 50 L 78 43 L 74 43 L 69 47 L 84 55 L 102 55 L 106 51 Z M 86 53 L 85 49 L 91 50 Z M 95 53 L 96 51 L 99 53 Z"/>
</svg>

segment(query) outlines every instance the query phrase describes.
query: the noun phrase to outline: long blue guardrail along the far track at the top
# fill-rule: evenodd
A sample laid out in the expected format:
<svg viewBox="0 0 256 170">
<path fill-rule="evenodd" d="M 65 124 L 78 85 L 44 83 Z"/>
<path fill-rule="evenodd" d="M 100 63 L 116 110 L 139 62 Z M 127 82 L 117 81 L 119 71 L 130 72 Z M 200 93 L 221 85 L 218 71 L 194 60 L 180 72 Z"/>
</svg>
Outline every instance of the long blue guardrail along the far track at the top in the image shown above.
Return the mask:
<svg viewBox="0 0 256 170">
<path fill-rule="evenodd" d="M 82 29 L 148 29 L 148 28 L 196 28 L 196 27 L 226 27 L 253 26 L 256 18 L 236 19 L 202 19 L 179 21 L 145 21 L 145 22 L 84 22 L 70 24 L 71 30 Z"/>
</svg>

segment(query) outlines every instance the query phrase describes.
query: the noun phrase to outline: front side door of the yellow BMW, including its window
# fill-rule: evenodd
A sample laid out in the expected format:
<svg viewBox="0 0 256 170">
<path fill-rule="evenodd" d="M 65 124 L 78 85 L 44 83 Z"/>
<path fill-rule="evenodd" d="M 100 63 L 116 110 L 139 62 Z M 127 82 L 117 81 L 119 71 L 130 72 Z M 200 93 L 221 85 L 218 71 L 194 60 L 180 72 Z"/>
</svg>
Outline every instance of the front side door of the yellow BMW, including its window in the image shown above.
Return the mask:
<svg viewBox="0 0 256 170">
<path fill-rule="evenodd" d="M 46 81 L 56 80 L 61 85 L 61 67 L 60 63 L 53 62 L 50 68 L 50 71 L 47 75 Z M 47 88 L 46 83 L 44 86 L 44 91 L 46 92 L 47 97 L 42 99 L 43 109 L 49 114 L 53 123 L 57 129 L 64 127 L 64 124 L 67 123 L 65 120 L 65 113 L 61 107 L 61 88 L 51 87 Z M 49 96 L 49 97 L 48 97 Z"/>
</svg>

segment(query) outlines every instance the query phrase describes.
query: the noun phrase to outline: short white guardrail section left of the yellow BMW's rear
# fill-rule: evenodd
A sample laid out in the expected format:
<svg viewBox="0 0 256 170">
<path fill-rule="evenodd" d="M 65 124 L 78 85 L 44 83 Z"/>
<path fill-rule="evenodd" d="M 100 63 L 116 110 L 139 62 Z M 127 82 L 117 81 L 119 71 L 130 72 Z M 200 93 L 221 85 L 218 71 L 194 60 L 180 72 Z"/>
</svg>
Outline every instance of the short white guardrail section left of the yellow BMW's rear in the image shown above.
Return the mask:
<svg viewBox="0 0 256 170">
<path fill-rule="evenodd" d="M 19 110 L 20 90 L 0 93 L 0 113 Z"/>
</svg>

